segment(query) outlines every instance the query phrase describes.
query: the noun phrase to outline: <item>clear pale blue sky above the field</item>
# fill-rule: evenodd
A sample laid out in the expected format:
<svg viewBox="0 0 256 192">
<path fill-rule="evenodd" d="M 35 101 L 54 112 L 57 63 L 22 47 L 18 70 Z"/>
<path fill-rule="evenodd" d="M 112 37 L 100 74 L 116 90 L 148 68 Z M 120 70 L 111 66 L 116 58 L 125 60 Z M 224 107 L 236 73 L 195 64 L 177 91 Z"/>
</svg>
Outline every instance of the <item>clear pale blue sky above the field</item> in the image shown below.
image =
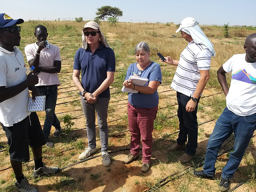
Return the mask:
<svg viewBox="0 0 256 192">
<path fill-rule="evenodd" d="M 110 5 L 123 11 L 119 21 L 174 22 L 185 17 L 199 24 L 256 26 L 255 0 L 0 0 L 0 13 L 13 19 L 62 20 L 84 17 L 93 20 L 97 8 Z M 126 19 L 127 18 L 127 19 Z"/>
</svg>

